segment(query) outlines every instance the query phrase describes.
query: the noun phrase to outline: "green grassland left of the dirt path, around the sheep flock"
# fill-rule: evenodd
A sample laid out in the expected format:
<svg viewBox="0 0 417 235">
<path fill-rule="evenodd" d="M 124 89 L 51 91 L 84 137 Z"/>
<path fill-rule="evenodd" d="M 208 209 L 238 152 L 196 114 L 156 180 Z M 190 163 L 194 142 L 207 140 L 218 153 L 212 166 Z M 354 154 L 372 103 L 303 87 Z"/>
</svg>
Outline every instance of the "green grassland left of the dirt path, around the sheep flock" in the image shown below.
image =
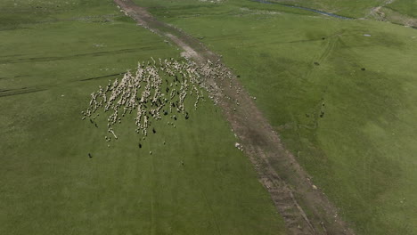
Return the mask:
<svg viewBox="0 0 417 235">
<path fill-rule="evenodd" d="M 108 147 L 105 118 L 81 120 L 99 85 L 175 47 L 111 1 L 0 9 L 0 234 L 284 233 L 211 102 L 188 103 L 176 128 L 155 122 L 142 149 L 127 121 Z"/>
</svg>

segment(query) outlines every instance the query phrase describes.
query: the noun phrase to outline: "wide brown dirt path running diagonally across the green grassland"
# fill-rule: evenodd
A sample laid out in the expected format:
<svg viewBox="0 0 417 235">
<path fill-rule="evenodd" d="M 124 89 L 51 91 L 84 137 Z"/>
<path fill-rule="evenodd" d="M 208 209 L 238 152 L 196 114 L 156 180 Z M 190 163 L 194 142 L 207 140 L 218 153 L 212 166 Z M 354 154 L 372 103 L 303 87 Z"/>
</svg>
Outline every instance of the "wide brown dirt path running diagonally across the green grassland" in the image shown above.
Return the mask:
<svg viewBox="0 0 417 235">
<path fill-rule="evenodd" d="M 170 40 L 197 63 L 218 61 L 197 39 L 181 29 L 156 20 L 143 7 L 131 0 L 114 0 L 116 4 L 143 28 Z M 222 65 L 225 67 L 225 65 Z M 246 93 L 237 79 L 210 81 L 220 87 L 217 105 L 223 109 L 233 133 L 241 140 L 242 150 L 258 172 L 258 179 L 271 194 L 282 215 L 289 234 L 354 234 L 338 216 L 330 201 L 317 190 L 307 173 L 282 142 Z M 279 174 L 278 174 L 279 173 Z M 308 211 L 308 215 L 305 211 Z"/>
</svg>

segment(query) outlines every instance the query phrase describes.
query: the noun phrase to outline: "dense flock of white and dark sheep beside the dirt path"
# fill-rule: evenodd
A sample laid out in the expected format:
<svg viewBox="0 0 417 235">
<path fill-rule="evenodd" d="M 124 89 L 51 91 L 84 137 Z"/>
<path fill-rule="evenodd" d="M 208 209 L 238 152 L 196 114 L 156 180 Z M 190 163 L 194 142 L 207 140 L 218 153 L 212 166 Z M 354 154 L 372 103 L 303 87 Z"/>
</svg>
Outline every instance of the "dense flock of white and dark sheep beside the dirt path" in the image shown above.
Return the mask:
<svg viewBox="0 0 417 235">
<path fill-rule="evenodd" d="M 109 112 L 108 131 L 118 139 L 113 126 L 134 112 L 136 133 L 142 134 L 145 139 L 151 119 L 159 120 L 163 116 L 176 119 L 178 114 L 188 119 L 184 106 L 187 97 L 194 97 L 194 108 L 197 109 L 199 102 L 205 101 L 203 90 L 206 90 L 209 98 L 217 103 L 219 90 L 216 79 L 230 79 L 231 76 L 231 72 L 211 61 L 199 66 L 187 59 L 159 59 L 157 62 L 151 58 L 151 61 L 139 63 L 135 73 L 127 71 L 120 81 L 109 81 L 106 87 L 99 86 L 96 92 L 91 93 L 90 106 L 82 112 L 82 119 L 89 118 L 94 123 L 93 119 L 100 115 L 99 110 Z M 169 121 L 168 125 L 175 127 Z M 152 131 L 155 133 L 154 128 Z M 105 136 L 107 142 L 111 141 L 111 135 Z"/>
</svg>

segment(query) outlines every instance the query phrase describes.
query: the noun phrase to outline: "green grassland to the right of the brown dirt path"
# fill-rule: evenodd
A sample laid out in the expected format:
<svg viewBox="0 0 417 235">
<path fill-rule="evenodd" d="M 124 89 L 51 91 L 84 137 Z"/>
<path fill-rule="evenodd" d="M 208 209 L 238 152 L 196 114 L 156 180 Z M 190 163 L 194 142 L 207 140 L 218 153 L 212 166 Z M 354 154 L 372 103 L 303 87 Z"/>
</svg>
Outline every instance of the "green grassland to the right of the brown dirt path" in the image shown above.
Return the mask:
<svg viewBox="0 0 417 235">
<path fill-rule="evenodd" d="M 417 232 L 414 29 L 249 1 L 135 2 L 224 56 L 358 234 Z"/>
</svg>

